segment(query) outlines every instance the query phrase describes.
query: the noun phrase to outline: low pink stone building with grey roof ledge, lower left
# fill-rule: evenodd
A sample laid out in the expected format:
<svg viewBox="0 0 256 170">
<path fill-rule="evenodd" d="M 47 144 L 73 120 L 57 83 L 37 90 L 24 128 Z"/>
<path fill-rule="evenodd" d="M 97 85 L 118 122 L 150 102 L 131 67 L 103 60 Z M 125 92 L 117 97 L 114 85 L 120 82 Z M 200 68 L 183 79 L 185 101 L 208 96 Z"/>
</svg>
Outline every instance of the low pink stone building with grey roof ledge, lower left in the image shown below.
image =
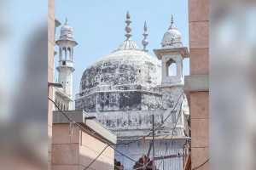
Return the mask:
<svg viewBox="0 0 256 170">
<path fill-rule="evenodd" d="M 108 144 L 116 144 L 116 135 L 88 118 L 84 111 L 65 112 L 79 123 L 80 128 L 68 122 L 61 111 L 53 112 L 52 170 L 85 169 L 105 148 L 104 153 L 88 169 L 113 169 L 114 150 Z"/>
</svg>

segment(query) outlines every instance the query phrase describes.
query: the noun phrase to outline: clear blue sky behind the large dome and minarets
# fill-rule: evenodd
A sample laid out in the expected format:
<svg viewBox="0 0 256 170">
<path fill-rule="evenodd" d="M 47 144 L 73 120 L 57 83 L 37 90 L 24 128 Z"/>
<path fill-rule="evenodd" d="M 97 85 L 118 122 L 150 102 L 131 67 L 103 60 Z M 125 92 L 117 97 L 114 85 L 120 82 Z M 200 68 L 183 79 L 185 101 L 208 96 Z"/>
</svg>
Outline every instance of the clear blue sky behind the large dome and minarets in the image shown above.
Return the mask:
<svg viewBox="0 0 256 170">
<path fill-rule="evenodd" d="M 142 47 L 143 24 L 148 23 L 148 52 L 160 48 L 160 42 L 170 26 L 174 15 L 175 25 L 183 34 L 183 44 L 189 44 L 189 22 L 187 0 L 55 0 L 55 17 L 64 23 L 67 17 L 74 29 L 74 38 L 79 46 L 74 49 L 75 69 L 73 92 L 79 92 L 83 71 L 103 55 L 107 55 L 125 40 L 125 14 L 131 14 L 132 40 Z M 59 37 L 60 27 L 56 30 Z M 57 60 L 55 57 L 55 61 Z M 56 64 L 56 62 L 55 62 Z M 183 63 L 184 75 L 189 74 L 189 61 Z M 55 74 L 56 76 L 57 74 Z"/>
</svg>

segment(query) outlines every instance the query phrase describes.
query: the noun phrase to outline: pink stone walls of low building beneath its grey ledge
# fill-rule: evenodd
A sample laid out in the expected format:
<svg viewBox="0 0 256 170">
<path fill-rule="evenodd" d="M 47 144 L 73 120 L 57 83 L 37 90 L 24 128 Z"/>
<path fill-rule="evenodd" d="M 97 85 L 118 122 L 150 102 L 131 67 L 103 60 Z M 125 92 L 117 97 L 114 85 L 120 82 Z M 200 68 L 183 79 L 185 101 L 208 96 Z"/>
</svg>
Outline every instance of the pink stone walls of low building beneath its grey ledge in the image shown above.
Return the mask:
<svg viewBox="0 0 256 170">
<path fill-rule="evenodd" d="M 54 124 L 52 139 L 52 169 L 83 169 L 106 146 L 101 140 L 73 127 L 70 141 L 69 125 Z M 114 150 L 108 147 L 91 166 L 94 169 L 113 169 Z"/>
</svg>

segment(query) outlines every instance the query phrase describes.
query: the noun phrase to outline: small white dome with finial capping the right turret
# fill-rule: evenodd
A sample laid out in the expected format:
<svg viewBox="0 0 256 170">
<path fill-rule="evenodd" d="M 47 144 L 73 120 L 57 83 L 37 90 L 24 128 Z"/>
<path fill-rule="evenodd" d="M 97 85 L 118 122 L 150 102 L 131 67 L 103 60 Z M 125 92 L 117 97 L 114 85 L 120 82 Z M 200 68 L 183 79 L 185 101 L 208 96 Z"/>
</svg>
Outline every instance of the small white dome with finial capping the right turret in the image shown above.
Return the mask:
<svg viewBox="0 0 256 170">
<path fill-rule="evenodd" d="M 173 25 L 173 17 L 171 26 L 164 34 L 161 45 L 162 48 L 180 48 L 183 47 L 182 34 L 177 30 L 177 27 Z"/>
</svg>

